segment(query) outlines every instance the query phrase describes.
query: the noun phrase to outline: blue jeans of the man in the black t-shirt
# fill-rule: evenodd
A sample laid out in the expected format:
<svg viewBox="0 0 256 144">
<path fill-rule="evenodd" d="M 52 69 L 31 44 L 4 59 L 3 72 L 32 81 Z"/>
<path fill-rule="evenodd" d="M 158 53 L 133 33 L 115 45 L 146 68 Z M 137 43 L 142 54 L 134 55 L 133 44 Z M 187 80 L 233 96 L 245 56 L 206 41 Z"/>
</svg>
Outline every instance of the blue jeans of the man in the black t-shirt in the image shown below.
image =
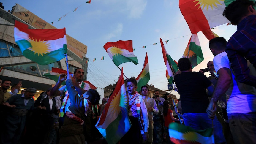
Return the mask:
<svg viewBox="0 0 256 144">
<path fill-rule="evenodd" d="M 207 113 L 184 113 L 183 119 L 186 126 L 190 126 L 195 130 L 212 128 L 212 120 L 208 118 Z M 222 125 L 216 116 L 213 119 L 213 129 L 215 143 L 226 143 L 222 133 Z"/>
</svg>

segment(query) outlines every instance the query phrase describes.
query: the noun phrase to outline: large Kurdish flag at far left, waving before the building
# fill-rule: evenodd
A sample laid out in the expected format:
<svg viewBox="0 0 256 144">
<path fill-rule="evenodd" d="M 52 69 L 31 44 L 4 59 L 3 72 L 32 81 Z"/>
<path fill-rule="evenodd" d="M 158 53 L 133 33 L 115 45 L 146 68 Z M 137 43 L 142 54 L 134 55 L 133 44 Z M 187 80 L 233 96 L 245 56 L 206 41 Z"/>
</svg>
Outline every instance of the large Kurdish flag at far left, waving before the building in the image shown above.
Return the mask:
<svg viewBox="0 0 256 144">
<path fill-rule="evenodd" d="M 40 65 L 59 61 L 67 53 L 65 28 L 28 29 L 28 25 L 15 21 L 14 39 L 22 54 Z"/>
</svg>

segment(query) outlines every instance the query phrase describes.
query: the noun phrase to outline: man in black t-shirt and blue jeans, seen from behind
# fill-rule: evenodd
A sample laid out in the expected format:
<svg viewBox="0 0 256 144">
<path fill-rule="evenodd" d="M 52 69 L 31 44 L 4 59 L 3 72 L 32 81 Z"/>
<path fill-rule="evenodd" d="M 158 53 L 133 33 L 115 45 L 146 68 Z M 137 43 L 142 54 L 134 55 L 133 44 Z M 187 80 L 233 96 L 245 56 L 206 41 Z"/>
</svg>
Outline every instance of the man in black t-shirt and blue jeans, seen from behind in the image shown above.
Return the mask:
<svg viewBox="0 0 256 144">
<path fill-rule="evenodd" d="M 174 76 L 181 99 L 184 124 L 195 130 L 204 130 L 212 127 L 212 121 L 206 113 L 209 104 L 206 89 L 212 95 L 214 86 L 201 72 L 192 72 L 192 65 L 188 58 L 178 61 L 181 74 Z M 225 143 L 222 126 L 214 120 L 214 137 L 216 143 Z"/>
</svg>

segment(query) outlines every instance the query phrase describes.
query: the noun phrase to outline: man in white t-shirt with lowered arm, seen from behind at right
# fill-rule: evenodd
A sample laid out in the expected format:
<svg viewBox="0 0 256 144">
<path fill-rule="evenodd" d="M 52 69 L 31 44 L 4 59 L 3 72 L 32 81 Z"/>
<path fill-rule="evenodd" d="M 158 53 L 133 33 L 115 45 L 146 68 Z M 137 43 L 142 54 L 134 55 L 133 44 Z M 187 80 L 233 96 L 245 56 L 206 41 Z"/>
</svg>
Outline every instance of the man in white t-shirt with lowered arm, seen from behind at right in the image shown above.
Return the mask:
<svg viewBox="0 0 256 144">
<path fill-rule="evenodd" d="M 213 98 L 207 113 L 213 119 L 217 101 L 227 95 L 227 113 L 230 130 L 236 144 L 255 143 L 256 135 L 256 89 L 235 78 L 230 61 L 225 52 L 227 41 L 223 37 L 211 39 L 209 47 L 214 55 L 214 67 L 219 75 Z M 251 75 L 256 75 L 252 64 L 248 63 Z"/>
</svg>

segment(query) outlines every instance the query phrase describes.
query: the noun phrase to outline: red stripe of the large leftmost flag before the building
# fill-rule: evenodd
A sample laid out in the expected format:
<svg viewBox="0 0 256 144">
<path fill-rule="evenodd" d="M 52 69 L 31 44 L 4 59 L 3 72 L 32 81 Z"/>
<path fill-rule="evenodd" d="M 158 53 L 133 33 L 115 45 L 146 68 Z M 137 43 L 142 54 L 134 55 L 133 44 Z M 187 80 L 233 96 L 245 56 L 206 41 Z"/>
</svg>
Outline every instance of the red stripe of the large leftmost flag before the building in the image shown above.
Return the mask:
<svg viewBox="0 0 256 144">
<path fill-rule="evenodd" d="M 15 20 L 15 28 L 29 34 L 29 37 L 39 40 L 55 40 L 66 35 L 66 29 L 28 29 L 28 25 Z"/>
</svg>

